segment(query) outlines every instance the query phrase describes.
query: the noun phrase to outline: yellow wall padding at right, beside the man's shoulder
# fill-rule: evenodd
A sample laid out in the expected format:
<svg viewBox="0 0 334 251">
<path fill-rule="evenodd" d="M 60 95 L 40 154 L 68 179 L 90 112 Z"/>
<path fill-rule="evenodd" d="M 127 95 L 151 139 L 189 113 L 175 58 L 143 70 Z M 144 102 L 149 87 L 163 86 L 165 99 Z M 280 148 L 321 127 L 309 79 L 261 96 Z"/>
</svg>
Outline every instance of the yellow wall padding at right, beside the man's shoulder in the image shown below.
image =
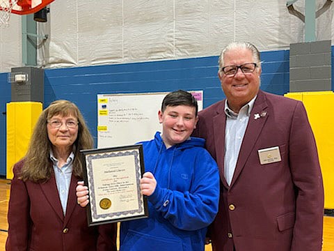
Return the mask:
<svg viewBox="0 0 334 251">
<path fill-rule="evenodd" d="M 317 142 L 324 178 L 325 208 L 334 208 L 334 93 L 314 91 L 287 93 L 285 96 L 303 101 Z"/>
</svg>

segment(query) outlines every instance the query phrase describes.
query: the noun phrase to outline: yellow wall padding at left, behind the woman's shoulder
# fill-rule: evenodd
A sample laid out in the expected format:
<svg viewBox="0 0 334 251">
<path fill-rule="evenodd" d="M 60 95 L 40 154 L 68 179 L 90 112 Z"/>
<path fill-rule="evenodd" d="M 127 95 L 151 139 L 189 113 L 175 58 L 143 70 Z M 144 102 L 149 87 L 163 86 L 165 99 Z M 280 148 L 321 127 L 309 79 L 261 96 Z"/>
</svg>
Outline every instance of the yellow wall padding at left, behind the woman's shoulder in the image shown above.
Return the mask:
<svg viewBox="0 0 334 251">
<path fill-rule="evenodd" d="M 13 166 L 26 154 L 29 141 L 38 117 L 42 112 L 41 102 L 7 103 L 7 173 L 13 178 Z"/>
</svg>

